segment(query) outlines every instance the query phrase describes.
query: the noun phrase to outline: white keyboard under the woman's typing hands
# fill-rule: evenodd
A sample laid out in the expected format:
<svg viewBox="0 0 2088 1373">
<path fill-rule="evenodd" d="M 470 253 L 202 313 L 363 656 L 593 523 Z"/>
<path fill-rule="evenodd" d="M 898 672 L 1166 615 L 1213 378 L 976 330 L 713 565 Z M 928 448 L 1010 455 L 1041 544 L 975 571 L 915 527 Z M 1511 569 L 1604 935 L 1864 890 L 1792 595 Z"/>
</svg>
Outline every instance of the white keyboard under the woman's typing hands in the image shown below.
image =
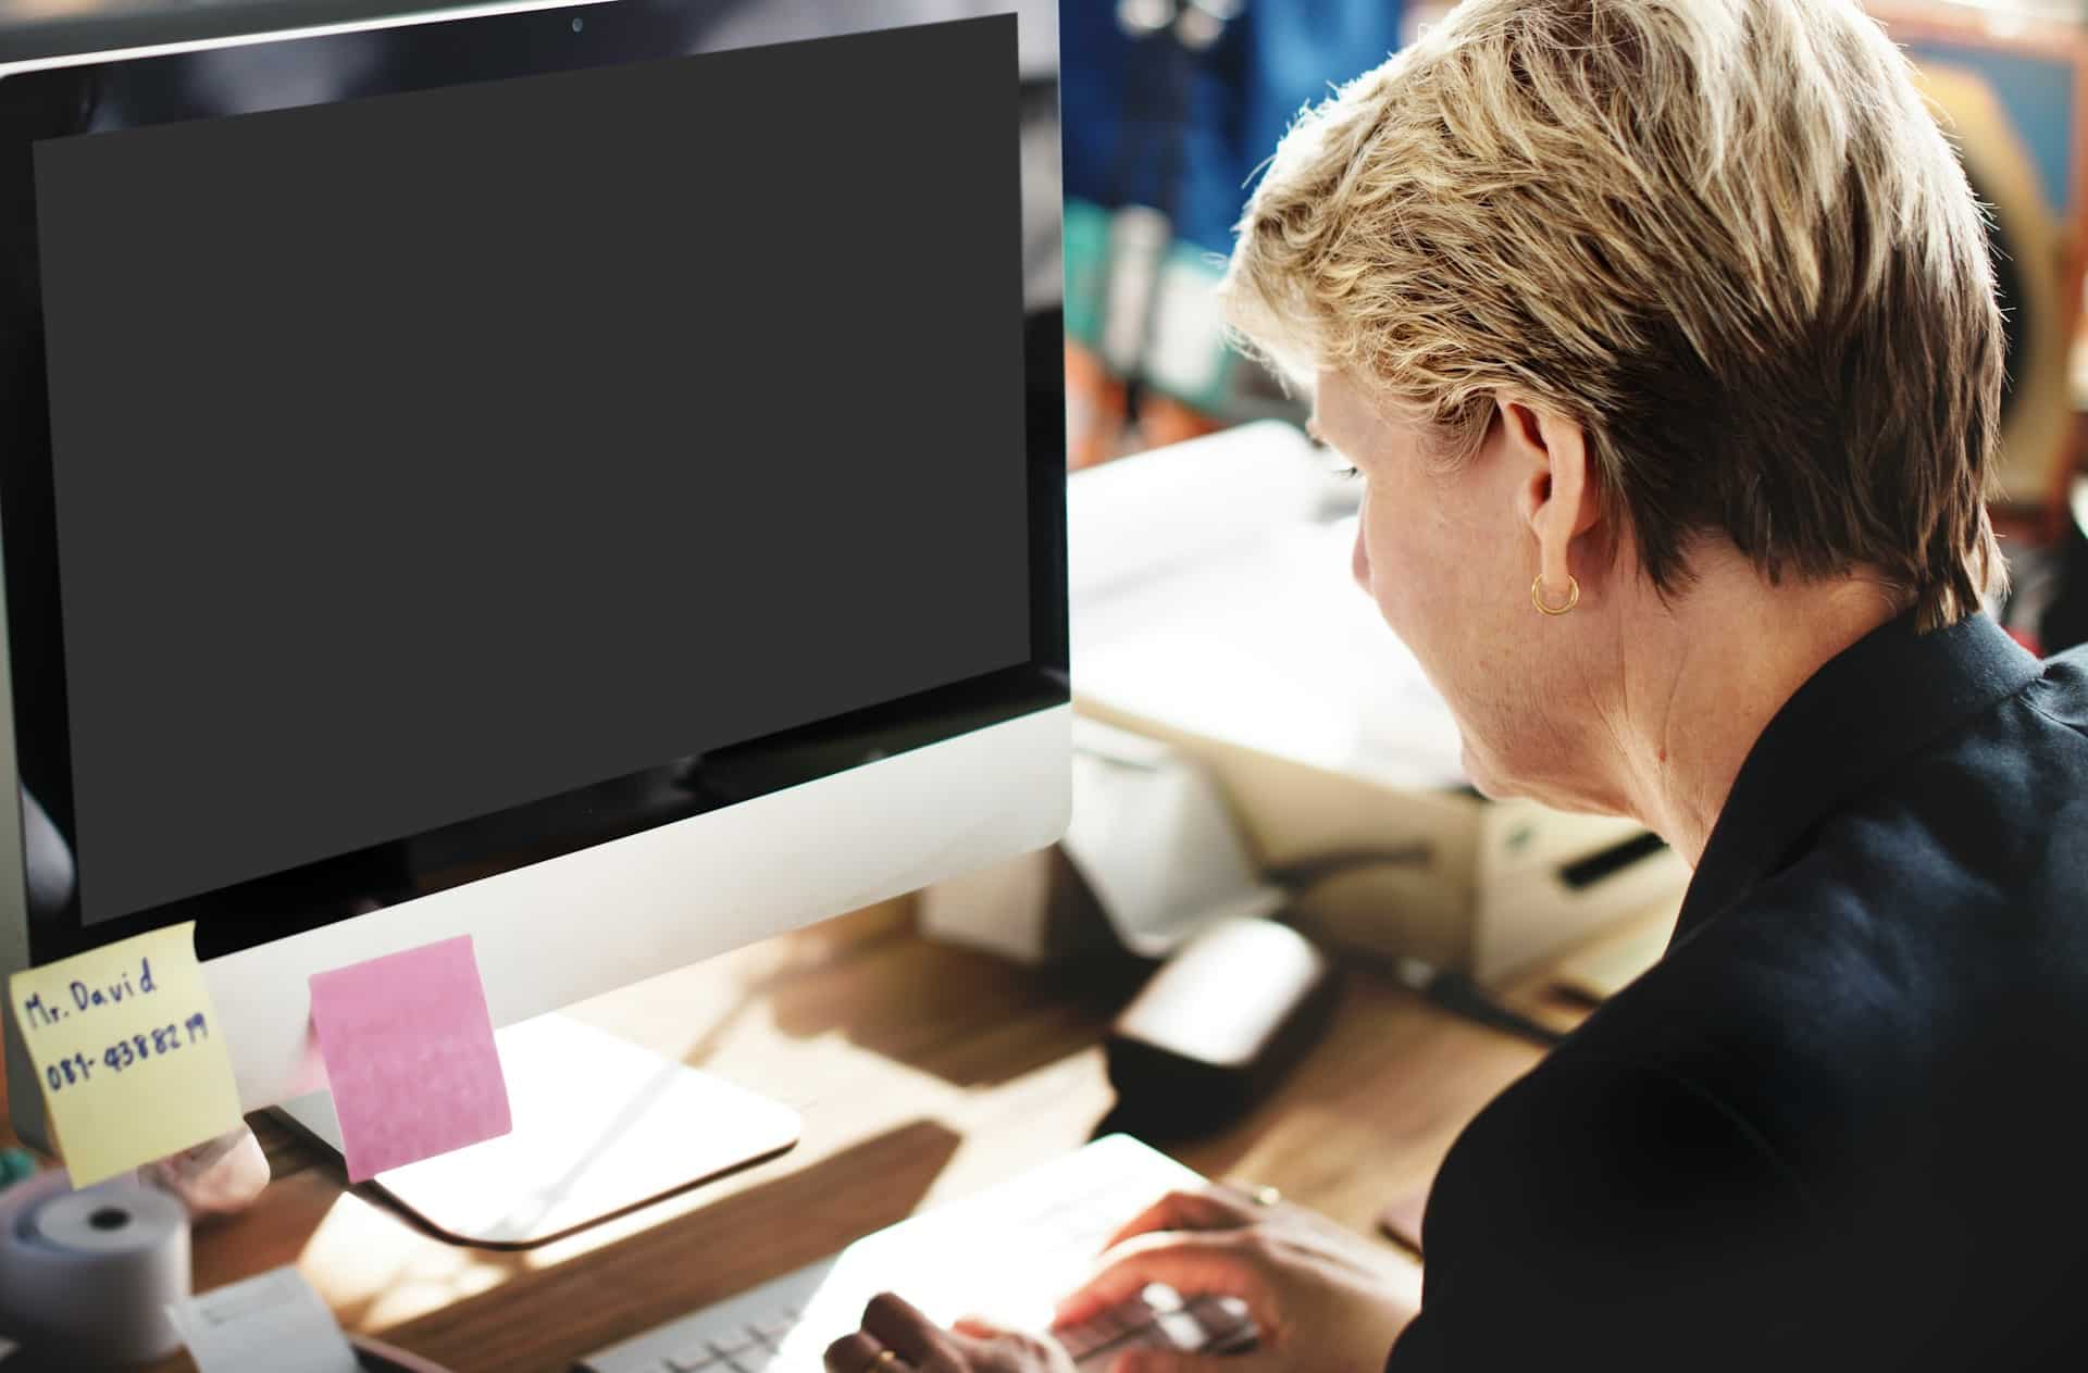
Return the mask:
<svg viewBox="0 0 2088 1373">
<path fill-rule="evenodd" d="M 773 1283 L 693 1310 L 580 1360 L 578 1373 L 825 1373 L 827 1346 L 864 1304 L 898 1292 L 933 1321 L 983 1317 L 1048 1329 L 1057 1298 L 1094 1271 L 1102 1244 L 1163 1194 L 1201 1177 L 1128 1135 L 990 1191 L 877 1231 Z M 1082 1373 L 1132 1348 L 1232 1354 L 1255 1327 L 1234 1298 L 1153 1285 L 1084 1325 L 1052 1331 Z"/>
</svg>

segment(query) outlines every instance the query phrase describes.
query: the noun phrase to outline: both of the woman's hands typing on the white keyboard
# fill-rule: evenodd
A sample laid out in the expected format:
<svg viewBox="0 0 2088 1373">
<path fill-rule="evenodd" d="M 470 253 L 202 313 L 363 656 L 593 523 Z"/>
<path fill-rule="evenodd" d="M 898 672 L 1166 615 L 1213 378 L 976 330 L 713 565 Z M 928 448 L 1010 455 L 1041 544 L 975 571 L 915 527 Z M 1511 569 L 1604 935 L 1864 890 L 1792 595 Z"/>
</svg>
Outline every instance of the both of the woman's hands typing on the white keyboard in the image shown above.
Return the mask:
<svg viewBox="0 0 2088 1373">
<path fill-rule="evenodd" d="M 1050 1338 L 977 1321 L 942 1329 L 904 1300 L 881 1296 L 864 1310 L 862 1329 L 827 1350 L 827 1369 L 1380 1369 L 1418 1308 L 1416 1285 L 1411 1264 L 1324 1217 L 1213 1185 L 1173 1191 L 1123 1225 L 1098 1273 L 1059 1304 Z M 1123 1340 L 1119 1331 L 1142 1327 L 1148 1310 L 1150 1329 L 1188 1338 Z"/>
</svg>

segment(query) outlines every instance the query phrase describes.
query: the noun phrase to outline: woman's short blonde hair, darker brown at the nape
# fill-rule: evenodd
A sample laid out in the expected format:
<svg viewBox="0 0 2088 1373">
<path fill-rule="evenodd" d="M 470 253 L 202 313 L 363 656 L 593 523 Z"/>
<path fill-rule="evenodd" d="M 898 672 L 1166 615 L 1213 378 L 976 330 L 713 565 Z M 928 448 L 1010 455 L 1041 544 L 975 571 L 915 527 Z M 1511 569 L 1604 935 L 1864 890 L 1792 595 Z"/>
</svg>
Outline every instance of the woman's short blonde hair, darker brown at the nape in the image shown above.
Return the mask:
<svg viewBox="0 0 2088 1373">
<path fill-rule="evenodd" d="M 1445 461 L 1497 394 L 1579 419 L 1664 593 L 1712 532 L 1923 628 L 2002 576 L 1986 225 L 1854 0 L 1466 0 L 1299 117 L 1221 298 Z"/>
</svg>

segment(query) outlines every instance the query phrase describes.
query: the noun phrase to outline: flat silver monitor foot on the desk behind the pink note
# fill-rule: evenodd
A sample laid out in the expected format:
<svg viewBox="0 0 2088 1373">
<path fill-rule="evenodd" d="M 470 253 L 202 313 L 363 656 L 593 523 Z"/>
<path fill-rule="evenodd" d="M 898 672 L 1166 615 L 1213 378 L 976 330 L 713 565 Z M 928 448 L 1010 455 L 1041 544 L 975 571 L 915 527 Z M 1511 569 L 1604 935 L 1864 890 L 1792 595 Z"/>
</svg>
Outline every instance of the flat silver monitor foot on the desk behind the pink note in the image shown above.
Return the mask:
<svg viewBox="0 0 2088 1373">
<path fill-rule="evenodd" d="M 495 1041 L 514 1131 L 374 1181 L 455 1244 L 535 1248 L 798 1143 L 796 1110 L 566 1016 Z M 332 1095 L 280 1112 L 340 1152 Z"/>
</svg>

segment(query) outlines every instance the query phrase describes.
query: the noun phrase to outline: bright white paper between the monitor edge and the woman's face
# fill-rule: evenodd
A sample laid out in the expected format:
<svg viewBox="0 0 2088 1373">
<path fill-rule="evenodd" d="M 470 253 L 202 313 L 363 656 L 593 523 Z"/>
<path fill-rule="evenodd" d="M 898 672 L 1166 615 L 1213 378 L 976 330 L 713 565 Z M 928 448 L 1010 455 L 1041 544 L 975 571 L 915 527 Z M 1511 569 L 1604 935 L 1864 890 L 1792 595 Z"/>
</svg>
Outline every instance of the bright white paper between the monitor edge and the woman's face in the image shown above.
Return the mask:
<svg viewBox="0 0 2088 1373">
<path fill-rule="evenodd" d="M 1355 515 L 1328 517 L 1320 461 L 1270 421 L 1075 474 L 1073 695 L 1389 787 L 1455 787 L 1457 722 L 1351 582 Z"/>
</svg>

